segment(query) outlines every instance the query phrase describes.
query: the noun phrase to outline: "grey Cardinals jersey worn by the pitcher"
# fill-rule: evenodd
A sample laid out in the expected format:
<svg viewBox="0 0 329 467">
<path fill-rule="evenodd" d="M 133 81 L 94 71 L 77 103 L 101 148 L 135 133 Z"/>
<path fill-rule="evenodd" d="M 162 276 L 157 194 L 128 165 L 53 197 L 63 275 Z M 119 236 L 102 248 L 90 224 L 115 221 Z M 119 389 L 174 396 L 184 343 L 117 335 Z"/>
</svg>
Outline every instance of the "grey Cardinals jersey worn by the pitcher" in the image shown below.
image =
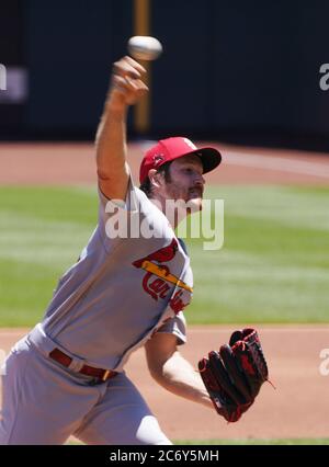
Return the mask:
<svg viewBox="0 0 329 467">
<path fill-rule="evenodd" d="M 110 238 L 120 217 L 127 229 Z M 98 227 L 59 280 L 42 328 L 89 365 L 121 372 L 156 331 L 185 342 L 182 310 L 191 300 L 192 281 L 184 243 L 131 181 L 125 205 L 100 193 Z"/>
</svg>

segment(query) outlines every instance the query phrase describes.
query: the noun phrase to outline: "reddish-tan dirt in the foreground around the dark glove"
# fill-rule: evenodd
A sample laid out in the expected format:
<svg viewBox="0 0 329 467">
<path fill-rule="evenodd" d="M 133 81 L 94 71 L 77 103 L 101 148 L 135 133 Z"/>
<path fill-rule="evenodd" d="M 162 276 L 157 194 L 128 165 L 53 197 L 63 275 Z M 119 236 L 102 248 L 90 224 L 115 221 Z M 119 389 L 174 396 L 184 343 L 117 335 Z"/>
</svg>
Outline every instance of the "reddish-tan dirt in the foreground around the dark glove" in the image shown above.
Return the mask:
<svg viewBox="0 0 329 467">
<path fill-rule="evenodd" d="M 191 363 L 228 340 L 232 328 L 191 327 L 181 351 Z M 329 348 L 329 326 L 260 327 L 274 390 L 265 384 L 254 406 L 238 423 L 227 424 L 215 411 L 178 398 L 159 387 L 146 367 L 144 351 L 133 354 L 126 372 L 137 384 L 172 440 L 328 437 L 329 376 L 319 372 L 319 353 Z M 8 351 L 24 330 L 2 330 Z"/>
</svg>

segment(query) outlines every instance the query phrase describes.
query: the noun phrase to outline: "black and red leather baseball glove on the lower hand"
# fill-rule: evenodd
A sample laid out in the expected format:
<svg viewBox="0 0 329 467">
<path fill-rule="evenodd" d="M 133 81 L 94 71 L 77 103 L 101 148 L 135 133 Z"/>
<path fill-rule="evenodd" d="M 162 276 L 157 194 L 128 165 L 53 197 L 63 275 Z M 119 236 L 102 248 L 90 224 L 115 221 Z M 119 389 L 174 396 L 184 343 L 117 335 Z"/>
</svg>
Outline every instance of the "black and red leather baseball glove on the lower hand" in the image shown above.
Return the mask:
<svg viewBox="0 0 329 467">
<path fill-rule="evenodd" d="M 217 412 L 228 422 L 237 422 L 269 376 L 258 332 L 235 331 L 229 345 L 198 362 L 198 371 Z"/>
</svg>

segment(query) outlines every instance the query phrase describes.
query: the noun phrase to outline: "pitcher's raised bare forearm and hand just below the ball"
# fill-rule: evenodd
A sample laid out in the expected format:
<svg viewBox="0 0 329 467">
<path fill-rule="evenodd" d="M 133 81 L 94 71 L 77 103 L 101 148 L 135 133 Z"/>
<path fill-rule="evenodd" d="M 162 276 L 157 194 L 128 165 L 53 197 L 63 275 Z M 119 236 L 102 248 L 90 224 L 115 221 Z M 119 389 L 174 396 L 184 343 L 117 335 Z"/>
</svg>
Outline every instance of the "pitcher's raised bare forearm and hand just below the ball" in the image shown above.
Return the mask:
<svg viewBox="0 0 329 467">
<path fill-rule="evenodd" d="M 113 65 L 110 90 L 95 138 L 99 185 L 104 195 L 112 200 L 125 200 L 126 196 L 129 178 L 126 162 L 127 110 L 148 91 L 143 82 L 145 72 L 145 68 L 128 56 Z"/>
</svg>

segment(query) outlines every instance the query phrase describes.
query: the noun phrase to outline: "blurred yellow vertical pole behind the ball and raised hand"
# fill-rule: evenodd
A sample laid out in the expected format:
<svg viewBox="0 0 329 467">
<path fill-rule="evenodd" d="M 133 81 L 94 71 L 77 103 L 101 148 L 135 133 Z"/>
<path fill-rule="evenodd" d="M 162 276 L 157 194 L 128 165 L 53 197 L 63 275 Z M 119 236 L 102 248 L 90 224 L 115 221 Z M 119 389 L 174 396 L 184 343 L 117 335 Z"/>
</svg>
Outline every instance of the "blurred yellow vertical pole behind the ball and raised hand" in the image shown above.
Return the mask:
<svg viewBox="0 0 329 467">
<path fill-rule="evenodd" d="M 150 1 L 151 0 L 134 0 L 134 35 L 150 35 Z M 147 133 L 149 129 L 149 111 L 150 111 L 150 65 L 149 61 L 140 60 L 147 71 L 146 84 L 149 92 L 136 104 L 134 113 L 134 127 L 137 133 Z"/>
</svg>

